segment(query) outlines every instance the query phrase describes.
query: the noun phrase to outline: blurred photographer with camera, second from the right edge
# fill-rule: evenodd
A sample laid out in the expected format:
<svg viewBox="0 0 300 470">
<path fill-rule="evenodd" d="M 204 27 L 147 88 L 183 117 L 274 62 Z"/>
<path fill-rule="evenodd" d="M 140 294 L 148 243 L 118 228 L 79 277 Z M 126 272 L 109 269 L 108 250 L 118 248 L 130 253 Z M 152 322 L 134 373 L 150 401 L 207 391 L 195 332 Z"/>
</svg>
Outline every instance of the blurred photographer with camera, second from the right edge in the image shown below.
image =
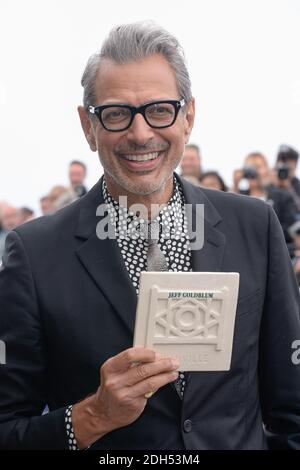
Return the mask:
<svg viewBox="0 0 300 470">
<path fill-rule="evenodd" d="M 266 157 L 253 152 L 245 158 L 244 168 L 235 170 L 233 192 L 257 197 L 270 204 L 277 214 L 286 242 L 292 244 L 288 229 L 297 219 L 296 205 L 286 190 L 276 188 L 271 183 L 272 173 Z"/>
</svg>

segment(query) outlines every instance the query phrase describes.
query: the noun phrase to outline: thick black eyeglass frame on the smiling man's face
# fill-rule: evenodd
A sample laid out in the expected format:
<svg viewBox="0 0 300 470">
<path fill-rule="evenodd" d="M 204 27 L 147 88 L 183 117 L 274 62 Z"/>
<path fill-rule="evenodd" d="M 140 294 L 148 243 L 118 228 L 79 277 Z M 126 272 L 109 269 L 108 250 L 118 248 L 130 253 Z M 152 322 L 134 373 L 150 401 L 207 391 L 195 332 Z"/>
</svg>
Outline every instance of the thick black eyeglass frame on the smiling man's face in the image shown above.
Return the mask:
<svg viewBox="0 0 300 470">
<path fill-rule="evenodd" d="M 172 104 L 174 106 L 175 113 L 174 113 L 174 118 L 173 118 L 173 121 L 171 122 L 171 124 L 167 124 L 166 126 L 153 126 L 152 124 L 150 124 L 148 122 L 147 117 L 146 117 L 146 109 L 149 106 L 153 106 L 155 104 Z M 105 104 L 105 105 L 102 105 L 102 106 L 101 105 L 99 105 L 99 106 L 88 106 L 88 111 L 91 114 L 95 114 L 97 116 L 97 118 L 99 119 L 99 121 L 102 124 L 103 128 L 108 132 L 123 132 L 123 131 L 126 131 L 131 126 L 136 114 L 141 114 L 143 116 L 143 118 L 145 119 L 146 123 L 148 124 L 148 126 L 152 127 L 152 129 L 165 129 L 167 127 L 173 126 L 173 124 L 175 123 L 175 121 L 177 119 L 177 116 L 178 116 L 178 113 L 179 113 L 180 109 L 183 108 L 185 106 L 185 104 L 186 104 L 185 100 L 184 100 L 184 98 L 182 98 L 181 100 L 151 101 L 150 103 L 146 103 L 146 104 L 143 104 L 142 106 L 137 106 L 137 107 L 136 106 L 131 106 L 129 104 Z M 131 117 L 130 117 L 128 125 L 126 127 L 122 128 L 122 129 L 108 129 L 104 125 L 103 120 L 102 120 L 102 111 L 104 111 L 107 108 L 125 108 L 125 109 L 129 109 L 129 111 L 131 113 Z"/>
</svg>

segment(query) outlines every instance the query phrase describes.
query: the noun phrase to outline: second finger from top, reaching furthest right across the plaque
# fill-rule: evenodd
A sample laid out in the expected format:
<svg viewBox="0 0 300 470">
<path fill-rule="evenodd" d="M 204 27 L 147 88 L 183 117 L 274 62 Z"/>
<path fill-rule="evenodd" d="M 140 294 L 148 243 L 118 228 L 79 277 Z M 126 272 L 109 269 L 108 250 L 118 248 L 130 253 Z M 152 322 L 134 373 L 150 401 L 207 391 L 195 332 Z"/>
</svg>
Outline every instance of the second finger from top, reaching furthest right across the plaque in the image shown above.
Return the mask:
<svg viewBox="0 0 300 470">
<path fill-rule="evenodd" d="M 178 369 L 179 362 L 175 358 L 164 358 L 155 362 L 140 363 L 127 370 L 120 380 L 127 386 L 132 386 L 151 376 L 172 372 Z"/>
</svg>

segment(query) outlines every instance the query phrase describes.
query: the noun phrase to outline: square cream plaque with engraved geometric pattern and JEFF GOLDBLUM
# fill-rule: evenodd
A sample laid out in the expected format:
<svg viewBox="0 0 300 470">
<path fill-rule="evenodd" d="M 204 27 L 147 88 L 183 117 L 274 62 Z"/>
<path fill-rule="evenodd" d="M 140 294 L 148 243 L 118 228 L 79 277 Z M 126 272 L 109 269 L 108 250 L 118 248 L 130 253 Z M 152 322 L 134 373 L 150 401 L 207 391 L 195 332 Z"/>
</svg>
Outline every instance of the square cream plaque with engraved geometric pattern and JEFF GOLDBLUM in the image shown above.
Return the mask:
<svg viewBox="0 0 300 470">
<path fill-rule="evenodd" d="M 229 370 L 238 273 L 142 272 L 134 346 L 176 356 L 181 371 Z"/>
</svg>

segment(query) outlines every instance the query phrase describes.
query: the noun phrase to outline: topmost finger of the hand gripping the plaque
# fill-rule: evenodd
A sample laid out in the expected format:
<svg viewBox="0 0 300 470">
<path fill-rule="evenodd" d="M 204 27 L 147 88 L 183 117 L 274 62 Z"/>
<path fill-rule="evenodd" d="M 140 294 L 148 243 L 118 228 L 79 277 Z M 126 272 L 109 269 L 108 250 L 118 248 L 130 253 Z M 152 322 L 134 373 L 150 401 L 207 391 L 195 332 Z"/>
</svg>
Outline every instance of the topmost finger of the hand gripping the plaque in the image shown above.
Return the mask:
<svg viewBox="0 0 300 470">
<path fill-rule="evenodd" d="M 156 353 L 152 349 L 143 347 L 129 348 L 108 359 L 105 363 L 105 369 L 107 372 L 119 372 L 128 369 L 134 363 L 153 362 L 156 357 Z"/>
</svg>

